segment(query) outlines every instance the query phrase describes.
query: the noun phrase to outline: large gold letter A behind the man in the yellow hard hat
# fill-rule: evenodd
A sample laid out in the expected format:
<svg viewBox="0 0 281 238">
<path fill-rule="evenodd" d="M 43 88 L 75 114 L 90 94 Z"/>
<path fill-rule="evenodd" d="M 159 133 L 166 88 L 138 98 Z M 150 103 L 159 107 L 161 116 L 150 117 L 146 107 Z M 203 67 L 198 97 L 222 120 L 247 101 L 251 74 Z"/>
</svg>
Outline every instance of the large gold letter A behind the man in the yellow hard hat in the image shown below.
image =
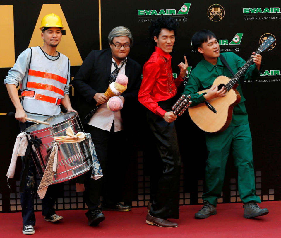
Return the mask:
<svg viewBox="0 0 281 238">
<path fill-rule="evenodd" d="M 40 32 L 39 28 L 40 28 L 42 18 L 49 13 L 54 13 L 61 18 L 62 25 L 64 26 L 64 30 L 65 30 L 65 35 L 62 36 L 61 42 L 59 43 L 57 50 L 69 58 L 71 66 L 81 65 L 83 62 L 82 58 L 81 58 L 78 48 L 75 44 L 75 41 L 72 37 L 70 28 L 66 22 L 66 18 L 64 16 L 64 13 L 61 9 L 60 4 L 43 4 L 42 5 L 42 9 L 38 16 L 37 23 L 35 25 L 35 28 L 34 28 L 34 31 L 33 31 L 33 34 L 32 34 L 28 47 L 43 45 L 43 39 L 41 38 L 41 35 L 40 35 L 41 32 Z"/>
</svg>

